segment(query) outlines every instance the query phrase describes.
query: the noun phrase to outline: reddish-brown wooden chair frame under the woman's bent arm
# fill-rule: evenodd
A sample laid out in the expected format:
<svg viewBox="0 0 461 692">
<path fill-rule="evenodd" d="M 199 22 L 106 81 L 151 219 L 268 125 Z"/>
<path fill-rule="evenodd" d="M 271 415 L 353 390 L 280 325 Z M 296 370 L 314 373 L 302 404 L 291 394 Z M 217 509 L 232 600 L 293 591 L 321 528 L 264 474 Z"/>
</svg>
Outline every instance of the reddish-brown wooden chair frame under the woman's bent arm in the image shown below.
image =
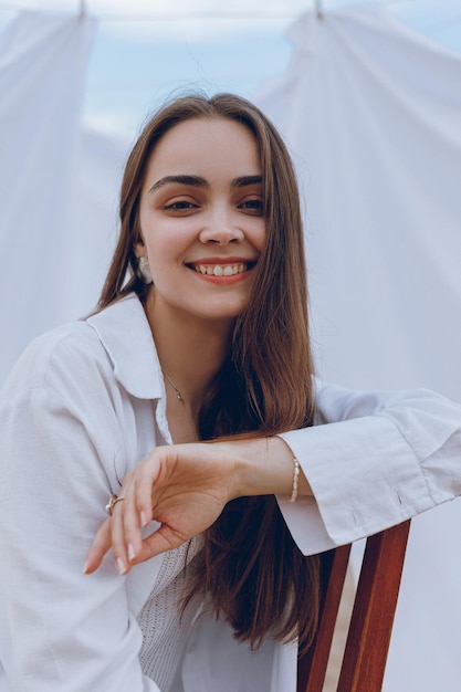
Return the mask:
<svg viewBox="0 0 461 692">
<path fill-rule="evenodd" d="M 379 692 L 389 650 L 410 520 L 367 538 L 337 692 Z M 325 556 L 327 587 L 314 643 L 298 659 L 297 692 L 322 692 L 350 545 Z"/>
</svg>

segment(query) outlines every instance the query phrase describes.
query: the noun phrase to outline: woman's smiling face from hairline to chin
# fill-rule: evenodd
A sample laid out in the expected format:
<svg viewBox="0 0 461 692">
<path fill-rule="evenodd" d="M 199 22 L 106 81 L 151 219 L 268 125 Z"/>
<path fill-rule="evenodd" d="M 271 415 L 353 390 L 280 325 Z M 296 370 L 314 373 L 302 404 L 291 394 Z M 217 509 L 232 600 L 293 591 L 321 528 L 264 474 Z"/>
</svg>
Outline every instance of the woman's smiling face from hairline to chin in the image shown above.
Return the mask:
<svg viewBox="0 0 461 692">
<path fill-rule="evenodd" d="M 265 242 L 262 170 L 252 133 L 231 119 L 176 125 L 148 161 L 143 242 L 157 315 L 233 319 L 249 298 Z M 153 315 L 154 316 L 154 315 Z"/>
</svg>

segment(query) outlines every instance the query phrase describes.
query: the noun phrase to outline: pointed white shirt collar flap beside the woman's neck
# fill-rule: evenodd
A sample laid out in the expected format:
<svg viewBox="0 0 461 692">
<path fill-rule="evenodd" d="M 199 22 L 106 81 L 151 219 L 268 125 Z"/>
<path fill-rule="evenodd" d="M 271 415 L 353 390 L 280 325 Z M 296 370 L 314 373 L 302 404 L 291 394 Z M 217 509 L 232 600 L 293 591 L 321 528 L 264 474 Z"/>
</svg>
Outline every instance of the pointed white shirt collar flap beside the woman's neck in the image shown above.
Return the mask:
<svg viewBox="0 0 461 692">
<path fill-rule="evenodd" d="M 86 321 L 113 365 L 115 378 L 139 399 L 164 395 L 161 367 L 144 307 L 135 293 Z"/>
</svg>

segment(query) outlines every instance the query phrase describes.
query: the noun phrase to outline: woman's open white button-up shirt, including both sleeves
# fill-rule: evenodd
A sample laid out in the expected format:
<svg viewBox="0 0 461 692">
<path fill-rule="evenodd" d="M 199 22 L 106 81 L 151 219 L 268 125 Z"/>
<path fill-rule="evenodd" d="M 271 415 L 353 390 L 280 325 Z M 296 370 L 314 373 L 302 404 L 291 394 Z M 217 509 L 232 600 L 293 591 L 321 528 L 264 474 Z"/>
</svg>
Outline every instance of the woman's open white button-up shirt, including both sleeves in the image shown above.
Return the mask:
<svg viewBox="0 0 461 692">
<path fill-rule="evenodd" d="M 461 407 L 422 390 L 319 382 L 316 403 L 324 424 L 283 436 L 315 495 L 294 505 L 279 499 L 304 553 L 461 494 Z M 91 576 L 83 564 L 108 495 L 170 442 L 161 370 L 136 296 L 23 354 L 0 398 L 1 692 L 158 691 L 139 663 L 139 622 L 165 556 L 126 577 L 109 556 Z M 228 626 L 198 619 L 170 692 L 289 692 L 295 662 L 295 646 L 266 641 L 252 654 Z"/>
</svg>

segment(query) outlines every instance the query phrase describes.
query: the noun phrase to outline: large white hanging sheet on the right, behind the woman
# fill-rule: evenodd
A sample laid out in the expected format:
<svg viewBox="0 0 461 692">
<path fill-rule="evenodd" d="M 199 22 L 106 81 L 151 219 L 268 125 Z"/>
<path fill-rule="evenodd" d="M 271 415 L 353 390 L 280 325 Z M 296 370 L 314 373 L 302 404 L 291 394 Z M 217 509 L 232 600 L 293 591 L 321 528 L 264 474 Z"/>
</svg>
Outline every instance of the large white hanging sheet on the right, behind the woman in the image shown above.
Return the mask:
<svg viewBox="0 0 461 692">
<path fill-rule="evenodd" d="M 303 186 L 318 371 L 461 401 L 461 61 L 365 9 L 291 39 L 258 102 Z M 460 501 L 413 521 L 387 692 L 460 689 Z"/>
</svg>

